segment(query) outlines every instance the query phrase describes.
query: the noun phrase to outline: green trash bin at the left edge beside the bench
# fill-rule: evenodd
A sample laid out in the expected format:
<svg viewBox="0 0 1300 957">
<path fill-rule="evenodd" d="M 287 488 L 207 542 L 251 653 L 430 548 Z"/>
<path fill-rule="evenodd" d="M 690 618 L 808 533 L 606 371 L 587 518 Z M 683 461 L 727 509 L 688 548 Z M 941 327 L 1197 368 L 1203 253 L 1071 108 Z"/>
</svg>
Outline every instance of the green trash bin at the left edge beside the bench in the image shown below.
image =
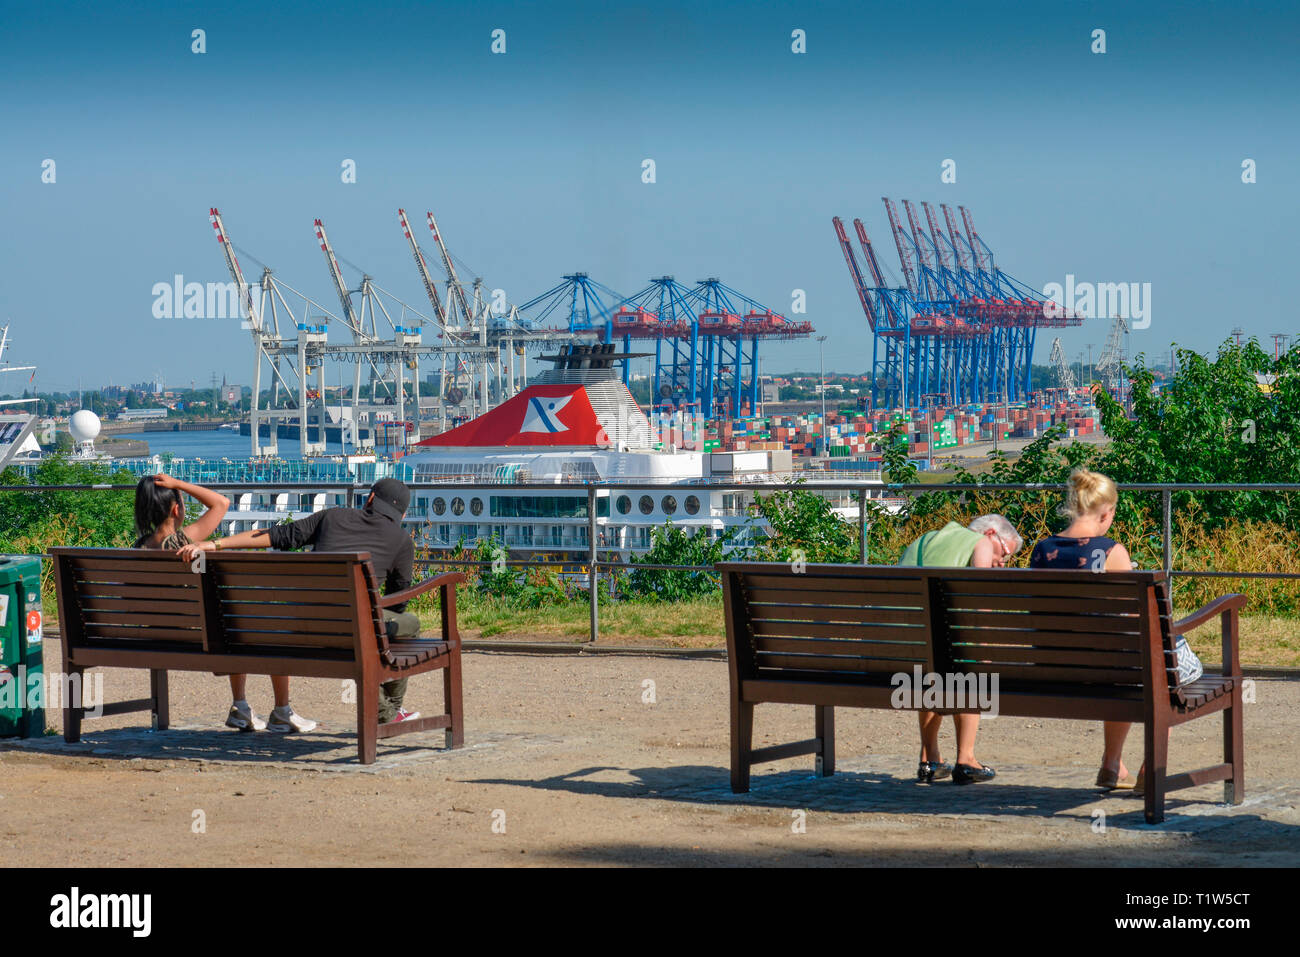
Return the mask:
<svg viewBox="0 0 1300 957">
<path fill-rule="evenodd" d="M 0 555 L 0 737 L 46 733 L 40 557 Z"/>
</svg>

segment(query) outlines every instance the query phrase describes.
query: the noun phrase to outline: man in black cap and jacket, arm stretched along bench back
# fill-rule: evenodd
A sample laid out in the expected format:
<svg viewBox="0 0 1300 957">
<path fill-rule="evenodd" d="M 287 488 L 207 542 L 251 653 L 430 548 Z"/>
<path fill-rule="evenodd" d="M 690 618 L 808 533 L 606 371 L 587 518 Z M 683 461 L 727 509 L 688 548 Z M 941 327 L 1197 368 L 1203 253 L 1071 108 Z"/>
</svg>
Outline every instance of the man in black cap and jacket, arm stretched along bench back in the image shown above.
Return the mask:
<svg viewBox="0 0 1300 957">
<path fill-rule="evenodd" d="M 380 478 L 370 486 L 361 508 L 325 508 L 283 525 L 187 545 L 181 549 L 181 557 L 188 562 L 199 551 L 266 547 L 292 551 L 308 545 L 316 551 L 369 551 L 385 594 L 393 594 L 411 584 L 415 542 L 402 529 L 402 518 L 410 503 L 411 489 L 396 478 Z M 404 602 L 384 609 L 384 620 L 390 638 L 420 633 L 420 618 L 406 611 Z M 407 679 L 402 677 L 380 685 L 381 724 L 420 716 L 419 711 L 402 707 L 406 684 Z"/>
</svg>

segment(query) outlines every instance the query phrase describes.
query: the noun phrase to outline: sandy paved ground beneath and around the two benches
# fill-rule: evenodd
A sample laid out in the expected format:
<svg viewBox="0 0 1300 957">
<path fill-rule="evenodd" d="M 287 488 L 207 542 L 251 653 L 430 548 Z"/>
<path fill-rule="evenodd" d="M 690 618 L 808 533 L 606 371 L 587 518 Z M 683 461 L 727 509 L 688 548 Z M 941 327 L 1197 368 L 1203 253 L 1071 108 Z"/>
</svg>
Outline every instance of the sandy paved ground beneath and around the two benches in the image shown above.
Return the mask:
<svg viewBox="0 0 1300 957">
<path fill-rule="evenodd" d="M 144 693 L 142 672 L 104 680 L 110 701 Z M 269 683 L 251 685 L 265 710 Z M 364 768 L 339 683 L 295 679 L 321 722 L 302 737 L 225 731 L 228 697 L 221 679 L 173 675 L 172 731 L 124 715 L 88 722 L 79 745 L 0 744 L 0 865 L 1300 865 L 1300 681 L 1257 683 L 1247 802 L 1179 792 L 1157 827 L 1139 800 L 1091 787 L 1101 733 L 1083 722 L 985 720 L 979 754 L 998 779 L 958 788 L 910 780 L 910 715 L 840 711 L 835 778 L 796 758 L 732 794 L 716 661 L 467 654 L 467 746 L 381 741 Z M 408 705 L 439 697 L 421 676 Z M 760 707 L 758 744 L 811 724 L 811 709 Z M 1175 729 L 1175 770 L 1217 761 L 1219 728 Z M 1127 757 L 1140 762 L 1140 732 Z"/>
</svg>

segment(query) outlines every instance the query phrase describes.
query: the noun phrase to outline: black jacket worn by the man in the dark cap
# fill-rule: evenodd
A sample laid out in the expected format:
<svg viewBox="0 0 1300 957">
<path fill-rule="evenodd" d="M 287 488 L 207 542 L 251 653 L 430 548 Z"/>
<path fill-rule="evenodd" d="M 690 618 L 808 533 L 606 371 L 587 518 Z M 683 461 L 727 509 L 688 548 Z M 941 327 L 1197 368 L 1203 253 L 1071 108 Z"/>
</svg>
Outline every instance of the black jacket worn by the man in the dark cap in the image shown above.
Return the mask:
<svg viewBox="0 0 1300 957">
<path fill-rule="evenodd" d="M 396 519 L 370 508 L 325 508 L 287 525 L 272 525 L 270 547 L 290 551 L 311 545 L 315 551 L 369 551 L 385 594 L 411 584 L 415 542 Z M 403 611 L 406 602 L 394 605 Z"/>
</svg>

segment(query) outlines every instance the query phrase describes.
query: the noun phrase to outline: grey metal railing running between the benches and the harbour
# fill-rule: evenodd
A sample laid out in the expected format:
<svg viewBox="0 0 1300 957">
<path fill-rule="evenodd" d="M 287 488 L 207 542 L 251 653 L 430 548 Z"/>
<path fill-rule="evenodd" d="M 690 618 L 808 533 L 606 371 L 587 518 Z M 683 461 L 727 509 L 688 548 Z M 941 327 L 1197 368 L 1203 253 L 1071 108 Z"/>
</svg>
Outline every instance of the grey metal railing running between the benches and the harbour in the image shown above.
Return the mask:
<svg viewBox="0 0 1300 957">
<path fill-rule="evenodd" d="M 815 476 L 816 481 L 811 482 L 676 482 L 676 484 L 654 484 L 649 485 L 646 482 L 597 482 L 597 484 L 578 484 L 578 482 L 512 482 L 512 484 L 493 484 L 493 492 L 510 493 L 510 492 L 585 492 L 586 493 L 586 515 L 585 518 L 585 531 L 586 531 L 586 554 L 584 558 L 576 559 L 497 559 L 497 560 L 476 560 L 456 557 L 447 558 L 420 558 L 416 559 L 417 566 L 422 567 L 510 567 L 510 568 L 559 568 L 575 570 L 573 575 L 582 575 L 586 579 L 586 590 L 589 594 L 590 605 L 590 642 L 595 644 L 599 638 L 599 589 L 601 589 L 601 575 L 602 572 L 616 572 L 620 570 L 641 570 L 641 571 L 684 571 L 684 572 L 711 572 L 712 566 L 688 566 L 688 564 L 651 564 L 645 562 L 632 562 L 627 559 L 611 559 L 601 558 L 599 553 L 618 553 L 618 551 L 630 551 L 632 549 L 627 546 L 611 546 L 602 545 L 599 529 L 602 524 L 623 524 L 616 516 L 597 515 L 597 499 L 599 493 L 606 492 L 611 497 L 619 492 L 632 492 L 632 490 L 645 490 L 653 488 L 655 493 L 679 490 L 682 493 L 702 493 L 702 492 L 749 492 L 749 493 L 772 493 L 783 492 L 790 489 L 805 489 L 809 492 L 853 492 L 858 505 L 857 525 L 859 533 L 859 562 L 862 564 L 868 564 L 868 532 L 871 528 L 872 510 L 868 507 L 868 502 L 881 502 L 881 501 L 898 501 L 901 495 L 924 495 L 924 494 L 940 494 L 940 493 L 988 493 L 988 492 L 1034 492 L 1034 493 L 1063 493 L 1063 484 L 942 484 L 942 485 L 924 485 L 924 484 L 881 484 L 881 482 L 862 482 L 862 481 L 823 481 L 822 475 Z M 445 490 L 447 486 L 441 482 L 407 482 L 412 492 L 432 492 L 432 490 Z M 316 490 L 316 492 L 347 492 L 350 495 L 363 495 L 369 490 L 369 485 L 358 482 L 286 482 L 286 484 L 248 484 L 248 482 L 213 482 L 211 488 L 222 493 L 240 492 L 296 492 L 296 490 Z M 1243 571 L 1201 571 L 1201 570 L 1178 570 L 1173 567 L 1174 563 L 1174 537 L 1173 537 L 1173 497 L 1179 492 L 1222 492 L 1222 493 L 1242 493 L 1242 492 L 1268 492 L 1268 493 L 1282 493 L 1294 492 L 1300 493 L 1300 482 L 1251 482 L 1251 484 L 1192 484 L 1192 482 L 1131 482 L 1131 484 L 1118 484 L 1117 488 L 1121 493 L 1144 493 L 1144 494 L 1158 494 L 1161 503 L 1161 557 L 1162 568 L 1169 575 L 1170 579 L 1178 577 L 1201 577 L 1201 579 L 1278 579 L 1278 580 L 1292 580 L 1300 579 L 1300 573 L 1295 572 L 1243 572 Z M 29 493 L 36 494 L 42 492 L 129 492 L 134 490 L 134 485 L 0 485 L 0 493 Z M 888 494 L 889 499 L 872 498 L 870 493 L 876 493 L 876 495 Z M 734 511 L 734 510 L 732 510 Z M 698 519 L 716 518 L 718 512 L 710 512 L 705 515 L 701 512 Z M 632 516 L 628 516 L 632 518 Z M 473 523 L 473 524 L 491 524 L 491 523 Z M 628 523 L 628 524 L 644 524 L 644 523 Z M 666 520 L 662 524 L 673 524 L 672 519 Z M 682 524 L 679 521 L 679 524 Z M 690 524 L 690 523 L 685 523 Z M 484 540 L 480 540 L 484 541 Z M 555 550 L 558 546 L 550 546 L 545 540 L 541 544 L 533 546 L 525 546 L 526 550 L 532 551 L 545 551 L 547 549 Z M 47 557 L 48 558 L 48 557 Z"/>
</svg>

